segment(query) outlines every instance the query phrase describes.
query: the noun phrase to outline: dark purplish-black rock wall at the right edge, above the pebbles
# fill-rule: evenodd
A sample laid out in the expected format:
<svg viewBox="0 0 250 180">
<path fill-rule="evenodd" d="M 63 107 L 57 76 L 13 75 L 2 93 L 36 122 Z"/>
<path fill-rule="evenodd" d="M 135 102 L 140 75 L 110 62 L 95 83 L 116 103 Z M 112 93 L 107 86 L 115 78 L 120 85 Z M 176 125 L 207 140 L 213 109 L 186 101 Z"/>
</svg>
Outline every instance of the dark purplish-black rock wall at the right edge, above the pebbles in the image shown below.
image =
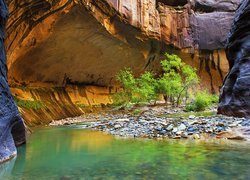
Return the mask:
<svg viewBox="0 0 250 180">
<path fill-rule="evenodd" d="M 227 43 L 230 72 L 224 81 L 218 112 L 250 117 L 250 1 L 238 9 Z"/>
</svg>

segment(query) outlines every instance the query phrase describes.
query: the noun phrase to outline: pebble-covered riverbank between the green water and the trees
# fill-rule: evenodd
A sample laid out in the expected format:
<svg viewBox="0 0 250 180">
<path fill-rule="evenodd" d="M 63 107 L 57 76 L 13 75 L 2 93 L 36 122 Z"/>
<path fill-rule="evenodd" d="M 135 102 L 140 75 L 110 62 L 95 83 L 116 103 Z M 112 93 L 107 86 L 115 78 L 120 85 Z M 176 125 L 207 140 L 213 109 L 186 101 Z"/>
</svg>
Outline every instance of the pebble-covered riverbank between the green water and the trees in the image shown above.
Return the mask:
<svg viewBox="0 0 250 180">
<path fill-rule="evenodd" d="M 84 129 L 128 138 L 250 139 L 250 119 L 216 115 L 215 109 L 185 113 L 181 108 L 141 107 L 105 111 L 53 121 L 50 126 L 80 124 Z"/>
</svg>

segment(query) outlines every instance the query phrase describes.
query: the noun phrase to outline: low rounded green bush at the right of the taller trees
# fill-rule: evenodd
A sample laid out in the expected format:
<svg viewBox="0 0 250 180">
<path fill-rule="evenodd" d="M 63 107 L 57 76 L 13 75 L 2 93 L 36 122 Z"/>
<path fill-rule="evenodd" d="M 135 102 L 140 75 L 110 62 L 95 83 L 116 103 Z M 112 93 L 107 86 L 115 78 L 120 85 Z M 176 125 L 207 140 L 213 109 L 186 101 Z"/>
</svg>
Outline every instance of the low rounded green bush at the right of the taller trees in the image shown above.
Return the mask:
<svg viewBox="0 0 250 180">
<path fill-rule="evenodd" d="M 207 91 L 200 91 L 196 93 L 193 102 L 186 106 L 186 111 L 204 111 L 211 105 L 218 103 L 218 96 L 211 95 Z"/>
</svg>

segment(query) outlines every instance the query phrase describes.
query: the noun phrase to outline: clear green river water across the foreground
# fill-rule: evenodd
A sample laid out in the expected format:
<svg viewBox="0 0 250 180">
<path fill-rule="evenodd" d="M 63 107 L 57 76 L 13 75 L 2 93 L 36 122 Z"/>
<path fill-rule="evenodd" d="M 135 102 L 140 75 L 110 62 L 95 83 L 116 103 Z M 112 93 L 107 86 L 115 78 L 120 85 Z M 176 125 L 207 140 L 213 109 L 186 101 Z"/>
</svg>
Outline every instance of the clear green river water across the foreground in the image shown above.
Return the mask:
<svg viewBox="0 0 250 180">
<path fill-rule="evenodd" d="M 250 146 L 117 139 L 75 127 L 36 130 L 0 179 L 249 179 Z"/>
</svg>

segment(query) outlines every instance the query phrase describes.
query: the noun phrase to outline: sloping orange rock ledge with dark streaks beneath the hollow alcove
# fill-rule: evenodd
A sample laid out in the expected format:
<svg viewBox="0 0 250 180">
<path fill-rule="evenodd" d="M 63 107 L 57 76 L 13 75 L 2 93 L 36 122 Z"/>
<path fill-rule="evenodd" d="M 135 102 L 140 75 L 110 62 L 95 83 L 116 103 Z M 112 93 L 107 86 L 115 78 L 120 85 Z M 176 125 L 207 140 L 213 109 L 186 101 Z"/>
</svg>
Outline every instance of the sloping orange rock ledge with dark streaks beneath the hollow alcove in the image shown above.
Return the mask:
<svg viewBox="0 0 250 180">
<path fill-rule="evenodd" d="M 47 125 L 51 120 L 80 116 L 100 110 L 102 105 L 112 103 L 110 94 L 114 91 L 116 91 L 114 88 L 79 85 L 69 85 L 63 88 L 11 88 L 12 94 L 18 98 L 18 104 L 21 101 L 30 102 L 30 107 L 27 108 L 20 103 L 19 108 L 29 127 Z M 35 106 L 36 104 L 39 106 Z"/>
</svg>

